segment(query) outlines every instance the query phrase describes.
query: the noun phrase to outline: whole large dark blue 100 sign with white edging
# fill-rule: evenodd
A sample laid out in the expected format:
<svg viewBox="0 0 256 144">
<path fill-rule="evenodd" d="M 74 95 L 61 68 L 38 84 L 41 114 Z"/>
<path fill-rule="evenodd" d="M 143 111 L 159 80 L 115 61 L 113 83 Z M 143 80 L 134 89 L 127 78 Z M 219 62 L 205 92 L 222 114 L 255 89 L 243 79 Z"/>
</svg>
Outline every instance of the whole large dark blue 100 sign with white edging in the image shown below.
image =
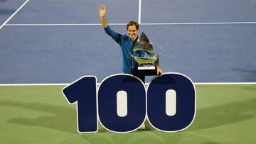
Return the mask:
<svg viewBox="0 0 256 144">
<path fill-rule="evenodd" d="M 196 89 L 191 79 L 165 73 L 147 87 L 130 74 L 114 74 L 97 87 L 94 76 L 85 76 L 63 88 L 70 104 L 77 103 L 78 132 L 95 133 L 98 120 L 108 131 L 135 131 L 146 118 L 159 131 L 182 131 L 196 114 Z"/>
</svg>

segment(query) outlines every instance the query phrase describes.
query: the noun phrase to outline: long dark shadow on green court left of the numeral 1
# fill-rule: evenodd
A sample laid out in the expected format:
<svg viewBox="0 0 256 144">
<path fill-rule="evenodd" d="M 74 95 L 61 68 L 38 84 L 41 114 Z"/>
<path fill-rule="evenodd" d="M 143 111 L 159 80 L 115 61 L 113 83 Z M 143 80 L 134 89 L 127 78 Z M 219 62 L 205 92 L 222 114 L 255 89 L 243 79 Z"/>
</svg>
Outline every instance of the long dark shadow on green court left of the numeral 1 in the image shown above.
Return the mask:
<svg viewBox="0 0 256 144">
<path fill-rule="evenodd" d="M 68 133 L 78 133 L 76 131 L 77 124 L 75 109 L 64 106 L 53 106 L 50 104 L 23 103 L 18 101 L 1 101 L 0 106 L 11 106 L 16 107 L 17 109 L 28 109 L 31 111 L 49 113 L 46 115 L 52 115 L 38 116 L 37 118 L 24 118 L 19 115 L 18 118 L 12 118 L 7 121 L 7 123 L 24 126 L 42 126 Z"/>
</svg>

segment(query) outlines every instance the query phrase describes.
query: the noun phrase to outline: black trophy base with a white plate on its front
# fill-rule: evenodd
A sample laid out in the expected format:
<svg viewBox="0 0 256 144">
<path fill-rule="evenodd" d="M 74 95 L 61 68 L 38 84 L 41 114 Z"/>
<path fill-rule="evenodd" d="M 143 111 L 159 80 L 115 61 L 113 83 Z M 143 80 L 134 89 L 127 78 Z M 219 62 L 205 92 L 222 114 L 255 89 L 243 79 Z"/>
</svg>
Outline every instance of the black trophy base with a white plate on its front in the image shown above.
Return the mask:
<svg viewBox="0 0 256 144">
<path fill-rule="evenodd" d="M 157 74 L 156 66 L 146 66 L 146 67 L 135 67 L 134 74 L 149 76 L 149 75 L 159 75 Z"/>
</svg>

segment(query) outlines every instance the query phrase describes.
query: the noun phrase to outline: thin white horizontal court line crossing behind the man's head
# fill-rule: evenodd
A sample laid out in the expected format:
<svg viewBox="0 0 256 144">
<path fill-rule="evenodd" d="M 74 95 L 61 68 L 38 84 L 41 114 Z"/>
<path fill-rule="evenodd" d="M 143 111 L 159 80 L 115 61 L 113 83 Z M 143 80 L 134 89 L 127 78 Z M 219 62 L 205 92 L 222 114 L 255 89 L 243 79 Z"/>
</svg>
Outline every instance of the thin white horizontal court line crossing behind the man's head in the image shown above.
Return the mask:
<svg viewBox="0 0 256 144">
<path fill-rule="evenodd" d="M 225 24 L 255 24 L 255 21 L 247 22 L 226 22 L 226 23 L 140 23 L 140 25 L 225 25 Z M 116 26 L 125 26 L 127 23 L 108 23 L 109 25 Z M 5 26 L 101 26 L 102 23 L 55 23 L 55 24 L 6 24 Z"/>
</svg>

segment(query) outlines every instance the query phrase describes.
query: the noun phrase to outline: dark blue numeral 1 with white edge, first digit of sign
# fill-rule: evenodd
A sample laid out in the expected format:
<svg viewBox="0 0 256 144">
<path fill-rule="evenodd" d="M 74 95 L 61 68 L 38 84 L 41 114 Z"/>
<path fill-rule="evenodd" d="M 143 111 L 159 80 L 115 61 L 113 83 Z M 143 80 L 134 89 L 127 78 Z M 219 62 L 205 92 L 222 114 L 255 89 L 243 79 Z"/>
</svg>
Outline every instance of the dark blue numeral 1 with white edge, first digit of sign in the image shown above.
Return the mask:
<svg viewBox="0 0 256 144">
<path fill-rule="evenodd" d="M 82 77 L 67 87 L 63 94 L 70 104 L 77 102 L 78 132 L 97 132 L 97 79 L 94 76 Z"/>
</svg>

